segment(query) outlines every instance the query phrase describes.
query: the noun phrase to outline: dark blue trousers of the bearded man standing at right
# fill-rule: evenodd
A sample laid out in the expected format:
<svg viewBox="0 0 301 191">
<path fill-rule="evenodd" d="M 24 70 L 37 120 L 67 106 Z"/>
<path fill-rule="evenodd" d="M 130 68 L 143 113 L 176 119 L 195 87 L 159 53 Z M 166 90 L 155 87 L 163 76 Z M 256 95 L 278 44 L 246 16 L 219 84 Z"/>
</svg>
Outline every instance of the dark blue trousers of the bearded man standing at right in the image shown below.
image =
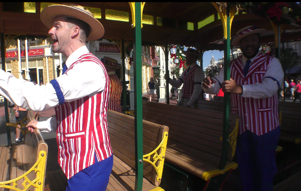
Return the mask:
<svg viewBox="0 0 301 191">
<path fill-rule="evenodd" d="M 244 191 L 273 190 L 279 136 L 279 126 L 261 136 L 249 130 L 237 136 L 235 155 Z"/>
</svg>

